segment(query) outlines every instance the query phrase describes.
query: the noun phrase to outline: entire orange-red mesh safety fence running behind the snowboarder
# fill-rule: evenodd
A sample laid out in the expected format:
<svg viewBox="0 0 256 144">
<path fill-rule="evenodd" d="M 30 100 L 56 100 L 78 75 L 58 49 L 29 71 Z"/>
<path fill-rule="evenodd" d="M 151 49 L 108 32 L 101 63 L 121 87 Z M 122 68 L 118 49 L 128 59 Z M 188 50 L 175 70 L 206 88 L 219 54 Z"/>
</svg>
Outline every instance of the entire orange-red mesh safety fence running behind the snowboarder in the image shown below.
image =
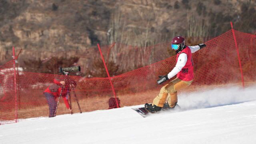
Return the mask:
<svg viewBox="0 0 256 144">
<path fill-rule="evenodd" d="M 255 35 L 235 31 L 235 36 L 241 58 L 244 82 L 246 84 L 253 83 L 256 80 L 256 74 L 254 73 L 256 66 Z M 188 90 L 191 91 L 193 88 L 206 85 L 242 84 L 238 54 L 232 30 L 209 40 L 206 44 L 206 48 L 192 54 L 195 78 Z M 166 46 L 168 46 L 168 44 L 156 45 L 151 48 L 136 48 L 122 44 L 102 46 L 105 61 L 114 61 L 121 69 L 125 69 L 126 67 L 131 67 L 132 69 L 132 67 L 136 68 L 139 65 L 146 65 L 110 78 L 116 96 L 118 97 L 116 103 L 119 104 L 120 107 L 152 102 L 153 98 L 163 86 L 156 83 L 158 76 L 168 74 L 176 64 L 176 56 L 168 58 Z M 69 52 L 45 52 L 45 55 L 43 52 L 36 52 L 33 55 L 28 50 L 24 50 L 18 60 L 21 62 L 21 59 L 30 57 L 47 59 L 51 56 L 61 56 L 61 53 L 66 53 L 67 56 L 78 55 L 80 58 L 84 58 L 84 63 L 86 63 L 84 64 L 84 71 L 86 71 L 86 68 L 90 67 L 87 63 L 90 63 L 91 60 L 95 58 L 101 59 L 98 48 L 95 47 L 88 50 Z M 14 122 L 15 118 L 13 98 L 14 72 L 11 68 L 12 61 L 6 63 L 4 66 L 0 66 L 2 72 L 0 74 L 1 124 Z M 103 65 L 102 68 L 104 70 Z M 3 70 L 6 71 L 4 74 Z M 52 90 L 52 92 L 56 92 L 54 102 L 51 101 L 55 103 L 60 96 L 60 91 L 58 90 L 62 88 L 62 96 L 60 98 L 60 104 L 58 105 L 57 115 L 70 113 L 68 110 L 70 104 L 67 105 L 67 102 L 70 102 L 69 100 L 71 100 L 74 113 L 80 112 L 78 104 L 82 112 L 117 107 L 117 104 L 113 101 L 114 94 L 108 78 L 85 78 L 81 76 L 62 76 L 25 71 L 17 72 L 16 78 L 19 121 L 25 118 L 50 116 L 50 110 L 52 108 L 51 100 L 49 100 L 49 96 L 46 96 L 44 93 L 49 92 L 49 89 Z M 60 81 L 65 81 L 64 87 L 60 84 Z M 74 89 L 70 87 L 72 84 Z"/>
</svg>

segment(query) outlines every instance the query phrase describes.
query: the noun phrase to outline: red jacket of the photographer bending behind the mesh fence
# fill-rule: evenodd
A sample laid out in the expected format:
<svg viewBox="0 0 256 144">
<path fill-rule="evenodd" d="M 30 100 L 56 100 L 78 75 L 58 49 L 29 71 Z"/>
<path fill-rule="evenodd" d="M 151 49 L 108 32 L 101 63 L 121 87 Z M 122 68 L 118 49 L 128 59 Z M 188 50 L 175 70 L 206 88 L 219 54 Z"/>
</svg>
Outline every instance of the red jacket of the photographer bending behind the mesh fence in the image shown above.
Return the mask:
<svg viewBox="0 0 256 144">
<path fill-rule="evenodd" d="M 51 94 L 52 96 L 54 96 L 54 98 L 58 98 L 60 96 L 60 92 L 62 89 L 62 98 L 64 100 L 64 103 L 66 105 L 67 108 L 70 108 L 69 104 L 68 104 L 68 100 L 66 98 L 67 92 L 69 89 L 69 85 L 66 84 L 65 82 L 65 86 L 63 86 L 62 84 L 60 84 L 60 82 L 63 81 L 61 79 L 58 78 L 54 78 L 54 84 L 51 86 L 48 86 L 48 88 L 46 88 L 46 90 L 44 90 L 44 93 L 47 92 L 49 94 Z M 62 88 L 63 87 L 63 88 Z"/>
</svg>

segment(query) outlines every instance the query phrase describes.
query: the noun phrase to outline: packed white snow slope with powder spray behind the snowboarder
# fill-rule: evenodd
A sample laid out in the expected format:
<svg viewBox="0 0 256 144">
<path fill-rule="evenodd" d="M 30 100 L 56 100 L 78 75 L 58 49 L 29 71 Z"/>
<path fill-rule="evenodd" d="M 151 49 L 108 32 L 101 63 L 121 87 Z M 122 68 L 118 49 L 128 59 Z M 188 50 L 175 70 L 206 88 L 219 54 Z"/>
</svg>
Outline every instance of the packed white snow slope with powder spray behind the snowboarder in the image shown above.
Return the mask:
<svg viewBox="0 0 256 144">
<path fill-rule="evenodd" d="M 255 92 L 181 94 L 181 110 L 146 118 L 130 106 L 1 125 L 0 144 L 255 144 Z"/>
</svg>

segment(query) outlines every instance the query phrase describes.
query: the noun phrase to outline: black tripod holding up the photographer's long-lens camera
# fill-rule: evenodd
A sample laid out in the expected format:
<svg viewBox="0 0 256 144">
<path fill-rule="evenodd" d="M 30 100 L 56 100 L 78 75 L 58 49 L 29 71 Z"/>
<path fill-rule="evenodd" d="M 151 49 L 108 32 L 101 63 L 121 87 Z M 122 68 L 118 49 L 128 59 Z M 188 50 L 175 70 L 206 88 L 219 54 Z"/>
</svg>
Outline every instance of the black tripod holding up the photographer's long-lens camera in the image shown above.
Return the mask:
<svg viewBox="0 0 256 144">
<path fill-rule="evenodd" d="M 64 79 L 64 81 L 66 81 L 66 80 L 68 80 L 68 82 L 70 82 L 70 81 L 73 81 L 68 75 L 69 75 L 69 72 L 63 72 L 63 74 L 65 75 L 65 79 Z M 77 96 L 76 96 L 76 92 L 75 92 L 75 90 L 74 90 L 74 84 L 72 83 L 72 84 L 69 84 L 68 83 L 68 85 L 69 85 L 69 89 L 68 89 L 68 95 L 69 95 L 69 98 L 68 98 L 68 100 L 69 100 L 69 106 L 70 106 L 70 113 L 71 114 L 73 114 L 73 111 L 72 111 L 72 103 L 71 103 L 71 91 L 73 91 L 73 93 L 74 93 L 74 97 L 75 97 L 75 99 L 76 99 L 76 103 L 77 103 L 77 105 L 78 105 L 78 108 L 79 108 L 79 110 L 80 110 L 80 113 L 82 113 L 82 110 L 81 110 L 81 108 L 80 108 L 80 105 L 79 105 L 79 102 L 78 102 L 78 98 L 77 98 Z M 56 112 L 57 112 L 57 109 L 58 109 L 58 105 L 59 105 L 59 103 L 60 103 L 60 98 L 61 98 L 61 96 L 62 96 L 62 91 L 63 91 L 63 88 L 66 88 L 66 87 L 64 87 L 64 86 L 62 86 L 62 88 L 61 88 L 61 90 L 60 90 L 60 96 L 59 96 L 59 98 L 58 98 L 58 102 L 57 102 L 57 106 L 56 106 L 56 109 L 55 109 L 55 112 L 54 112 L 54 116 L 56 116 Z"/>
</svg>

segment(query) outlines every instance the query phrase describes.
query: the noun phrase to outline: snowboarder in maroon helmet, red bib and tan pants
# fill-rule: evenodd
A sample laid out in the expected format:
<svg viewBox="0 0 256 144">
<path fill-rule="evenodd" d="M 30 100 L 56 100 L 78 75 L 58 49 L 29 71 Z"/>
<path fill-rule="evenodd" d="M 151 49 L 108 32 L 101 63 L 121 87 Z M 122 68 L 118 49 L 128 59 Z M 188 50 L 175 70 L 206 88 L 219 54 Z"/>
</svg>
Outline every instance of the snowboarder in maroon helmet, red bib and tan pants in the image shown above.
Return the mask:
<svg viewBox="0 0 256 144">
<path fill-rule="evenodd" d="M 185 39 L 182 36 L 176 36 L 172 39 L 172 49 L 176 51 L 176 66 L 169 74 L 158 76 L 158 84 L 164 83 L 177 74 L 177 78 L 164 85 L 158 96 L 154 98 L 152 104 L 145 104 L 148 112 L 157 112 L 163 109 L 174 108 L 178 102 L 177 91 L 186 88 L 192 84 L 194 79 L 192 53 L 204 48 L 206 44 L 198 44 L 197 46 L 186 46 Z M 170 95 L 168 95 L 170 94 Z"/>
</svg>

